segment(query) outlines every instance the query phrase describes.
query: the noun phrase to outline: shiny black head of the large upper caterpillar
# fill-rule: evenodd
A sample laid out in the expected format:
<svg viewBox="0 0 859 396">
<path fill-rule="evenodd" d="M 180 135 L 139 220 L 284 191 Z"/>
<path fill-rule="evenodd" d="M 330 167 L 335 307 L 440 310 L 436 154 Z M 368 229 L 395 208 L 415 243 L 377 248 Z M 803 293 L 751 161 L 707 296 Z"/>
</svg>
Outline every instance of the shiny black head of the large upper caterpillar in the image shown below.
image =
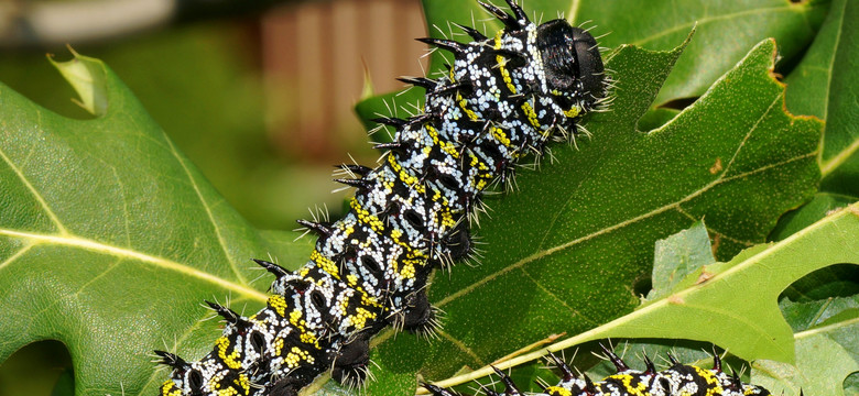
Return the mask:
<svg viewBox="0 0 859 396">
<path fill-rule="evenodd" d="M 537 26 L 536 43 L 548 89 L 563 109 L 585 112 L 606 96 L 602 57 L 590 33 L 554 20 Z"/>
</svg>

